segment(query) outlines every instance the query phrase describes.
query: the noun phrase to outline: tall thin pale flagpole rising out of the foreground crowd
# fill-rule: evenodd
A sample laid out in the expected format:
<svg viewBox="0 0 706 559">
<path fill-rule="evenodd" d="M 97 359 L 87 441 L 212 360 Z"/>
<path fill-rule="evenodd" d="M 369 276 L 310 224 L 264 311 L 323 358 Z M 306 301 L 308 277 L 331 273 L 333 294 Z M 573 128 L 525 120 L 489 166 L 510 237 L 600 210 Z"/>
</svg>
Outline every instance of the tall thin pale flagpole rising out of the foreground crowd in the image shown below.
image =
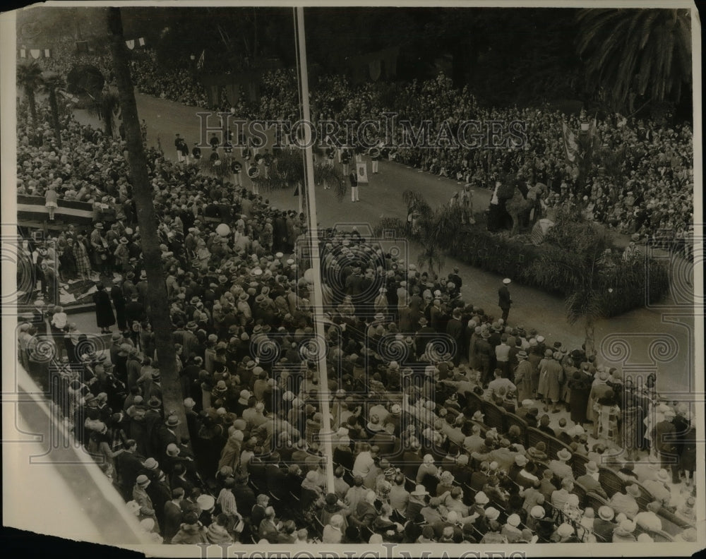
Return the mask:
<svg viewBox="0 0 706 559">
<path fill-rule="evenodd" d="M 311 123 L 309 110 L 309 77 L 306 73 L 306 35 L 304 33 L 304 8 L 294 8 L 297 21 L 297 47 L 299 50 L 299 85 L 301 87 L 301 116 L 304 122 Z M 313 125 L 312 125 L 313 126 Z M 333 447 L 331 445 L 330 392 L 328 390 L 328 371 L 326 367 L 325 333 L 323 323 L 323 291 L 321 289 L 321 257 L 319 255 L 318 223 L 316 220 L 316 192 L 313 178 L 313 151 L 311 149 L 311 126 L 304 125 L 304 160 L 306 184 L 306 203 L 309 206 L 309 254 L 313 271 L 313 323 L 316 334 L 318 356 L 318 395 L 321 405 L 321 441 L 326 457 L 326 486 L 328 493 L 335 493 L 333 484 Z M 301 192 L 299 195 L 301 196 Z"/>
</svg>

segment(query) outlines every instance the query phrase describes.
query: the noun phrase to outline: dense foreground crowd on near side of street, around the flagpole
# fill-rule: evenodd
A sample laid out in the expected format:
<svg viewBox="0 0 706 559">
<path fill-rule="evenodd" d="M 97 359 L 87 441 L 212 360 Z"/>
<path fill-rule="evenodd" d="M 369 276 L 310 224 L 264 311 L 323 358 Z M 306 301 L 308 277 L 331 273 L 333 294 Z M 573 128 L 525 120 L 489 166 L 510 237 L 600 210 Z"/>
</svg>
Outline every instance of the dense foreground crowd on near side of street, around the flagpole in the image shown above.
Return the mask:
<svg viewBox="0 0 706 559">
<path fill-rule="evenodd" d="M 20 138 L 20 187 L 116 213 L 25 242 L 47 299 L 20 319 L 18 359 L 150 538 L 693 541 L 695 423 L 654 377 L 506 323 L 462 299 L 457 271 L 422 273 L 356 231 L 321 239 L 317 340 L 304 217 L 148 150 L 177 347 L 160 363 L 124 144 L 72 119 L 62 139 Z M 100 277 L 103 351 L 52 300 L 57 260 Z M 178 375 L 188 436 L 162 373 Z"/>
</svg>

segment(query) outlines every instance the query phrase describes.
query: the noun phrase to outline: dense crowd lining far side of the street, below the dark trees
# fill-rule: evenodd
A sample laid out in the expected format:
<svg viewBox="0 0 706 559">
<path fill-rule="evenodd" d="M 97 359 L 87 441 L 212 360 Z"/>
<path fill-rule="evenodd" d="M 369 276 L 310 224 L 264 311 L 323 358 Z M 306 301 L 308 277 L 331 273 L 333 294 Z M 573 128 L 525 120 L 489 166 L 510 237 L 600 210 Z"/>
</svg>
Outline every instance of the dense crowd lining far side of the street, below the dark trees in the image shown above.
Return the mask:
<svg viewBox="0 0 706 559">
<path fill-rule="evenodd" d="M 66 59 L 47 59 L 47 63 L 58 70 L 61 68 L 55 66 L 66 66 L 62 60 Z M 111 76 L 105 56 L 86 54 L 77 60 L 95 64 L 105 76 Z M 155 52 L 147 49 L 134 57 L 132 73 L 138 90 L 148 95 L 196 107 L 207 104 L 195 67 L 165 70 L 157 64 Z M 218 107 L 208 108 L 229 110 L 225 91 Z M 294 71 L 265 74 L 261 99 L 252 103 L 241 95 L 234 108 L 246 118 L 296 120 Z M 681 243 L 693 231 L 693 132 L 688 124 L 667 128 L 619 114 L 598 120 L 596 164 L 590 167 L 585 184 L 577 184 L 575 169 L 566 162 L 561 126 L 566 123 L 578 134 L 582 125 L 589 126 L 592 121 L 583 114 L 566 115 L 549 107 L 481 107 L 467 88 L 454 88 L 443 75 L 424 82 L 356 87 L 343 76 L 321 76 L 313 88 L 312 109 L 318 119 L 340 122 L 379 119 L 383 112 L 396 112 L 398 121 L 408 119 L 415 126 L 431 121 L 431 138 L 436 138 L 443 123 L 455 132 L 461 121 L 499 121 L 506 135 L 508 124 L 518 121 L 527 140 L 517 148 L 398 148 L 390 152 L 390 158 L 486 188 L 492 188 L 496 177 L 503 174 L 528 184 L 542 182 L 549 186 L 547 207 L 578 208 L 588 219 L 656 244 Z M 399 127 L 393 142 L 402 142 Z"/>
</svg>

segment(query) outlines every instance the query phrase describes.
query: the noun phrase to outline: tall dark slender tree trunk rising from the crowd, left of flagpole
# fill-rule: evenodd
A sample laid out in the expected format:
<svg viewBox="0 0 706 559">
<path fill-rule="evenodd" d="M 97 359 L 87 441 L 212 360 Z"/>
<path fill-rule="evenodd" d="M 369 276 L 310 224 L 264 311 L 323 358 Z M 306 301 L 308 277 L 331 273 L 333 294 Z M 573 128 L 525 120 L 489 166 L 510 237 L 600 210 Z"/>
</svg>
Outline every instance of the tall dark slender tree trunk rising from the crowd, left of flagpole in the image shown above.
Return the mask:
<svg viewBox="0 0 706 559">
<path fill-rule="evenodd" d="M 137 207 L 137 220 L 142 236 L 142 250 L 148 279 L 150 321 L 155 332 L 155 346 L 162 374 L 162 402 L 165 411 L 174 410 L 181 421 L 181 434 L 186 435 L 183 395 L 177 373 L 177 354 L 172 339 L 172 320 L 169 317 L 167 286 L 162 272 L 162 255 L 157 238 L 157 217 L 152 205 L 154 193 L 147 174 L 147 158 L 140 135 L 140 121 L 133 89 L 130 68 L 126 57 L 125 38 L 120 8 L 108 8 L 107 23 L 113 71 L 118 86 L 118 98 L 123 111 L 123 123 L 129 154 L 133 196 Z"/>
</svg>

